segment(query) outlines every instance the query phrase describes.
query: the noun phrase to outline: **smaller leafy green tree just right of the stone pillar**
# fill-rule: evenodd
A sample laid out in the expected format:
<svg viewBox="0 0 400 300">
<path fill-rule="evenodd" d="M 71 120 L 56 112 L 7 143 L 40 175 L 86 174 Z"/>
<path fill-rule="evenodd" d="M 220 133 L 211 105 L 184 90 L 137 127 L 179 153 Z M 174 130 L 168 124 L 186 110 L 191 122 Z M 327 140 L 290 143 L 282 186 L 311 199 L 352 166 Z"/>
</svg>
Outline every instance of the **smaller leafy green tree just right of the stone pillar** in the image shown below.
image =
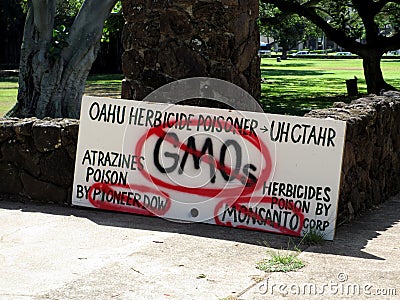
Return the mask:
<svg viewBox="0 0 400 300">
<path fill-rule="evenodd" d="M 260 3 L 260 33 L 272 37 L 282 47 L 282 59 L 287 58 L 287 51 L 300 43 L 317 37 L 319 30 L 306 18 L 282 12 L 271 4 Z"/>
</svg>

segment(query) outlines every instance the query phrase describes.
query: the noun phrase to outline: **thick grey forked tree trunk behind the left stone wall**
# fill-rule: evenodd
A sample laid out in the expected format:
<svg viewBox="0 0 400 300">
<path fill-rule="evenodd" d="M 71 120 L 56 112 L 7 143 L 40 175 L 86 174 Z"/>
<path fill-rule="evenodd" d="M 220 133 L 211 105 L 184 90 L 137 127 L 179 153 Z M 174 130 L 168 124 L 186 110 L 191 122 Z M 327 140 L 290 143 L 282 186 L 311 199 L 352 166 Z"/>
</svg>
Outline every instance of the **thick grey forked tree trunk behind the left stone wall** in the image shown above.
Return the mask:
<svg viewBox="0 0 400 300">
<path fill-rule="evenodd" d="M 85 82 L 99 50 L 104 22 L 116 2 L 28 1 L 17 104 L 8 116 L 79 117 Z M 67 11 L 79 12 L 70 27 L 56 26 L 59 12 L 66 11 L 62 9 L 65 5 L 71 8 Z"/>
</svg>

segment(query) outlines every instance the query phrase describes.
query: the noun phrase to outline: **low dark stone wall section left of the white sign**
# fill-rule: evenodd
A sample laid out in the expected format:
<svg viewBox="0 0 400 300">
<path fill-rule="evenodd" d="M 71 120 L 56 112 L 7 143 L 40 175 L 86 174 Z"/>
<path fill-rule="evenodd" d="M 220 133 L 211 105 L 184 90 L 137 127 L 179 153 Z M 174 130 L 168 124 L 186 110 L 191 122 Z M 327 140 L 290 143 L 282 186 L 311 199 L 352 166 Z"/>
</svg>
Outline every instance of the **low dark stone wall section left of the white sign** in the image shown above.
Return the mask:
<svg viewBox="0 0 400 300">
<path fill-rule="evenodd" d="M 78 128 L 70 119 L 0 119 L 0 194 L 70 202 Z"/>
</svg>

